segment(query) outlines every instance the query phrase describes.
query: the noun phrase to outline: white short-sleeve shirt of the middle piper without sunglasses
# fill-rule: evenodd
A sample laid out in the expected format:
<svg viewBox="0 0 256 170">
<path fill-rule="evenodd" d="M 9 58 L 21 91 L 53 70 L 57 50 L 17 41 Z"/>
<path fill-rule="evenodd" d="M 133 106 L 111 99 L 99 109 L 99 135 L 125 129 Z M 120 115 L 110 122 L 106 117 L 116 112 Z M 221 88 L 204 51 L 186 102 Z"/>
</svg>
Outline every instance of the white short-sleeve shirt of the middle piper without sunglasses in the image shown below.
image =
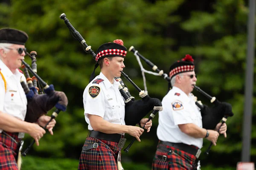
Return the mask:
<svg viewBox="0 0 256 170">
<path fill-rule="evenodd" d="M 119 85 L 115 79 L 111 84 L 101 72 L 86 86 L 83 102 L 85 120 L 89 124 L 88 130 L 93 130 L 88 114 L 101 116 L 114 124 L 125 125 L 125 102 L 118 90 Z"/>
</svg>

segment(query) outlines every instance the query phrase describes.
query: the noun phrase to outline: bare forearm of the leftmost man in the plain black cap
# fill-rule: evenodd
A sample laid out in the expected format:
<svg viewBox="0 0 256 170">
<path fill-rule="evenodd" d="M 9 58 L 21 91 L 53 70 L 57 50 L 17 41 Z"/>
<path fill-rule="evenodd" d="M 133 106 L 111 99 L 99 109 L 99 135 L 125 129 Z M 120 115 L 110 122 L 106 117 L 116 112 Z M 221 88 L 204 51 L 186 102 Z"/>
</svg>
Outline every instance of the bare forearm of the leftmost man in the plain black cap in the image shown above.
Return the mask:
<svg viewBox="0 0 256 170">
<path fill-rule="evenodd" d="M 24 122 L 7 113 L 0 111 L 0 129 L 7 132 L 25 132 L 28 130 L 28 122 Z"/>
</svg>

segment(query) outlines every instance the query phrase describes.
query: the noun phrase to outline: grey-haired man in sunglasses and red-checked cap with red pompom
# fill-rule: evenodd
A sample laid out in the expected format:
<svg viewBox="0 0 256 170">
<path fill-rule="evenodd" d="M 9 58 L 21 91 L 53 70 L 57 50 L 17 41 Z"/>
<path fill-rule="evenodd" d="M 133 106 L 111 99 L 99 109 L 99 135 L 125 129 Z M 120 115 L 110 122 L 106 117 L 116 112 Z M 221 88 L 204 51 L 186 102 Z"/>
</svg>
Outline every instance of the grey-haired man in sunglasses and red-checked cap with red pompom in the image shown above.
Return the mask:
<svg viewBox="0 0 256 170">
<path fill-rule="evenodd" d="M 203 138 L 216 145 L 219 133 L 226 137 L 226 124 L 219 123 L 215 130 L 202 127 L 201 112 L 191 94 L 197 81 L 193 61 L 187 54 L 170 67 L 172 89 L 163 98 L 163 111 L 159 113 L 159 143 L 152 170 L 192 170 L 197 167 Z"/>
</svg>

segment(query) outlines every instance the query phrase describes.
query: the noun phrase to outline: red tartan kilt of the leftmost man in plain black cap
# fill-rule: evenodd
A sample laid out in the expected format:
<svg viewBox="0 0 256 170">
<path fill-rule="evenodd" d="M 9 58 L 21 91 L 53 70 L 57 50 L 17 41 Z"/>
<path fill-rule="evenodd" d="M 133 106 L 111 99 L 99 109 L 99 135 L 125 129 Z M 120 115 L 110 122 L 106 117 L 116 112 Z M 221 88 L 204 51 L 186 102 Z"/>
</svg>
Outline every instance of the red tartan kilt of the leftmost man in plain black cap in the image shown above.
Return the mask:
<svg viewBox="0 0 256 170">
<path fill-rule="evenodd" d="M 18 133 L 8 133 L 17 142 L 21 139 L 18 138 Z M 0 170 L 18 170 L 16 156 L 18 145 L 9 137 L 0 133 Z"/>
</svg>

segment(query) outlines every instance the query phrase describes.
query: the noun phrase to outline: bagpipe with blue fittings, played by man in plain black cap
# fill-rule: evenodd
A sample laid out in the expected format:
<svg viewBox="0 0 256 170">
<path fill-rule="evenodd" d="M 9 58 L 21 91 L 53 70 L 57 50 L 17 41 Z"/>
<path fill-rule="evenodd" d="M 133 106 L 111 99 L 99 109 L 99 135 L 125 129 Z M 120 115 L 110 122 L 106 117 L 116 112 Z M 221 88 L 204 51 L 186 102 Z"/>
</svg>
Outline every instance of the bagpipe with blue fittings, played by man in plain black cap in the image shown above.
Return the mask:
<svg viewBox="0 0 256 170">
<path fill-rule="evenodd" d="M 49 120 L 49 122 L 51 122 L 52 119 L 55 119 L 58 116 L 58 113 L 60 113 L 60 111 L 66 111 L 68 104 L 67 96 L 64 94 L 64 92 L 55 91 L 53 85 L 47 85 L 47 83 L 38 76 L 35 63 L 37 53 L 35 51 L 32 51 L 30 52 L 30 54 L 26 54 L 28 54 L 29 57 L 32 59 L 32 68 L 24 60 L 22 60 L 23 65 L 21 68 L 23 68 L 26 80 L 21 77 L 20 83 L 25 91 L 28 101 L 25 121 L 32 123 L 36 122 L 40 116 L 47 114 L 48 111 L 55 107 L 56 109 L 52 113 L 51 119 Z M 29 72 L 33 74 L 32 78 L 29 76 Z M 41 89 L 41 85 L 44 89 L 45 94 L 42 94 L 43 92 Z M 41 94 L 38 94 L 38 91 Z M 47 124 L 43 127 L 44 129 L 46 129 L 49 122 L 47 122 Z M 26 156 L 34 143 L 35 140 L 33 140 L 29 144 L 29 146 L 22 153 L 23 156 Z"/>
</svg>

